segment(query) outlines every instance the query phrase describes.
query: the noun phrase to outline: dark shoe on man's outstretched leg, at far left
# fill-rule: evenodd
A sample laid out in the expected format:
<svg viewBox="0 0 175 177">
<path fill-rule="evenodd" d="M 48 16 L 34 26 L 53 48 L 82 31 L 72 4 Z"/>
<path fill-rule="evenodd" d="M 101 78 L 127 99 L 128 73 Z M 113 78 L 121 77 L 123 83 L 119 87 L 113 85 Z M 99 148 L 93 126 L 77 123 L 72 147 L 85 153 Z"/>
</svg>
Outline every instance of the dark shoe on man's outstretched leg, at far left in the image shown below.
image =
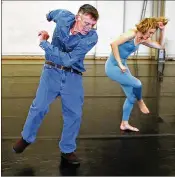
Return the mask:
<svg viewBox="0 0 175 177">
<path fill-rule="evenodd" d="M 28 145 L 30 145 L 30 143 L 21 138 L 13 146 L 13 151 L 16 153 L 22 153 Z"/>
</svg>

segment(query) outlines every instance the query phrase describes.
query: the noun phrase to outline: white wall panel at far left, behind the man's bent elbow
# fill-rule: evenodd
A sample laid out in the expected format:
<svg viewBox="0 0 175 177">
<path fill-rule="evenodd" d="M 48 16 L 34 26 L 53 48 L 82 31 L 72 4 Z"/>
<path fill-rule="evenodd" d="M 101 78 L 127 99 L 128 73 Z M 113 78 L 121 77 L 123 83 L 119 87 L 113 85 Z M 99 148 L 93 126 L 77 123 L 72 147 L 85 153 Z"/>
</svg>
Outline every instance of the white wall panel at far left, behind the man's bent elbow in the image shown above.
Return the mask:
<svg viewBox="0 0 175 177">
<path fill-rule="evenodd" d="M 51 40 L 55 28 L 54 22 L 46 20 L 46 14 L 59 8 L 76 13 L 85 3 L 96 4 L 95 1 L 3 1 L 2 53 L 43 55 L 37 34 L 40 30 L 47 30 Z M 94 49 L 89 53 L 94 53 Z"/>
</svg>

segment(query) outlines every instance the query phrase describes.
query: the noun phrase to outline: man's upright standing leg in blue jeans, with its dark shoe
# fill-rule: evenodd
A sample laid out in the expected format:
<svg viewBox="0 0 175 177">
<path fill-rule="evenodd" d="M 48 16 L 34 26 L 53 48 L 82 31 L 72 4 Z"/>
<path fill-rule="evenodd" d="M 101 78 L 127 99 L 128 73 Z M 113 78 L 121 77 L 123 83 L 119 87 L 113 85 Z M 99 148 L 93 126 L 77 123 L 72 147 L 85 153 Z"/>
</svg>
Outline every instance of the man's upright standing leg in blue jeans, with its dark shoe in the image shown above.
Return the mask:
<svg viewBox="0 0 175 177">
<path fill-rule="evenodd" d="M 65 74 L 65 84 L 61 91 L 64 124 L 59 147 L 63 158 L 67 158 L 70 163 L 78 164 L 74 151 L 76 150 L 76 138 L 80 130 L 84 102 L 82 76 L 75 73 Z"/>
</svg>

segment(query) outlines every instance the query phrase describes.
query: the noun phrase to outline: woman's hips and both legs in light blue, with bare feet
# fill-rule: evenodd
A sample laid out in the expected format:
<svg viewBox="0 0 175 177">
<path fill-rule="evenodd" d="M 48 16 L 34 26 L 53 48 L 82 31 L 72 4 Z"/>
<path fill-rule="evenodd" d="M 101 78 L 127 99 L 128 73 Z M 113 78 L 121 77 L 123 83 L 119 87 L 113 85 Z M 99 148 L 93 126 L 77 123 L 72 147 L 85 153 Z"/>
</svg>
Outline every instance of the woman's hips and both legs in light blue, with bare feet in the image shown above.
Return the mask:
<svg viewBox="0 0 175 177">
<path fill-rule="evenodd" d="M 127 65 L 125 66 L 127 67 Z M 110 79 L 121 84 L 127 96 L 123 105 L 123 118 L 120 128 L 123 130 L 130 129 L 132 131 L 138 131 L 137 128 L 130 126 L 128 121 L 136 100 L 139 103 L 140 110 L 143 113 L 149 113 L 148 108 L 142 100 L 142 84 L 140 80 L 131 75 L 129 68 L 125 73 L 122 73 L 120 68 L 110 63 L 110 61 L 106 62 L 105 71 Z"/>
</svg>

